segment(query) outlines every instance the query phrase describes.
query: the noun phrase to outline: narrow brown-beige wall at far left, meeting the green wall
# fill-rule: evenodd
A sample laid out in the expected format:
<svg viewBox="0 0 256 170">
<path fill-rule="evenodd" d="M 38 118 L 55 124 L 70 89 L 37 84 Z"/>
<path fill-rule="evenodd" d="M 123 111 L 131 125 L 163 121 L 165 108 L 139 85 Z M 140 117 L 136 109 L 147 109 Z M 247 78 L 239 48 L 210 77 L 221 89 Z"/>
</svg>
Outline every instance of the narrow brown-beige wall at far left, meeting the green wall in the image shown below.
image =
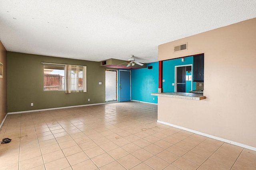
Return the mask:
<svg viewBox="0 0 256 170">
<path fill-rule="evenodd" d="M 4 64 L 3 78 L 0 78 L 0 124 L 7 114 L 7 74 L 6 49 L 0 41 L 0 63 Z"/>
</svg>

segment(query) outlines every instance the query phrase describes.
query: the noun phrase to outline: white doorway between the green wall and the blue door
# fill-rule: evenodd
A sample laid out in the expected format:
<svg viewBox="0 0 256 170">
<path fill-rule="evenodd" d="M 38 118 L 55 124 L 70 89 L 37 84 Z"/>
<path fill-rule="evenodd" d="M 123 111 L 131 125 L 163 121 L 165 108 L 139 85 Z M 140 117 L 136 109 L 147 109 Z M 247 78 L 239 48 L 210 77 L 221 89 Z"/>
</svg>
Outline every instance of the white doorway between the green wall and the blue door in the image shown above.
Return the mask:
<svg viewBox="0 0 256 170">
<path fill-rule="evenodd" d="M 117 70 L 105 70 L 105 102 L 117 100 Z"/>
</svg>

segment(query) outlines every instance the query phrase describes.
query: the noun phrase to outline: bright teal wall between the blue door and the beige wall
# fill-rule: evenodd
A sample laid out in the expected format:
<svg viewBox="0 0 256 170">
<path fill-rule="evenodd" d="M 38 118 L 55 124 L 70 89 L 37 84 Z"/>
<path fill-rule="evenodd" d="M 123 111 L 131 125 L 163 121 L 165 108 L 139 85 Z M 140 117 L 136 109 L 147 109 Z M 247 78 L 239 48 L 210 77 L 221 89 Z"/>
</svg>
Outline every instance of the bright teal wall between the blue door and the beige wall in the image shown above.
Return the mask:
<svg viewBox="0 0 256 170">
<path fill-rule="evenodd" d="M 153 68 L 132 70 L 132 100 L 157 103 L 157 96 L 151 96 L 151 93 L 158 92 L 158 62 L 148 63 L 147 66 Z"/>
</svg>

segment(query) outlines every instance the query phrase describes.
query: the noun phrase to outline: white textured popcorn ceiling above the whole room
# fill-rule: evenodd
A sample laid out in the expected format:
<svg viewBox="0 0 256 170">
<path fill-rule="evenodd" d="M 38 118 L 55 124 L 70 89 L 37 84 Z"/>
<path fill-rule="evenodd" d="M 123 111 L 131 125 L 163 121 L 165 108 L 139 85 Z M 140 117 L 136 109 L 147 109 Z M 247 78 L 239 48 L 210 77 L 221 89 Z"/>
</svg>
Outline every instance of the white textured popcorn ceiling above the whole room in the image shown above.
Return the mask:
<svg viewBox="0 0 256 170">
<path fill-rule="evenodd" d="M 0 0 L 7 51 L 158 61 L 158 45 L 256 17 L 256 0 Z"/>
</svg>

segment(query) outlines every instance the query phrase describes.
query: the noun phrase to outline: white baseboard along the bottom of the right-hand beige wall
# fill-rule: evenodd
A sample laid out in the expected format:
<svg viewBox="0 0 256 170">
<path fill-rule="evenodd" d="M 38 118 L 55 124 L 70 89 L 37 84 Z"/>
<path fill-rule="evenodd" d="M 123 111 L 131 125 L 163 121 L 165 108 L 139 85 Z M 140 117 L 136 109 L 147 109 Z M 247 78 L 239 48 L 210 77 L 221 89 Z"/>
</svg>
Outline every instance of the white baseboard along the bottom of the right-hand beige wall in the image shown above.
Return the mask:
<svg viewBox="0 0 256 170">
<path fill-rule="evenodd" d="M 166 123 L 166 122 L 164 122 L 164 121 L 159 121 L 159 120 L 158 120 L 157 122 L 158 122 L 158 123 L 162 123 L 162 124 L 164 124 L 164 125 L 176 127 L 176 128 L 178 128 L 178 129 L 182 129 L 182 130 L 185 130 L 185 131 L 189 131 L 189 132 L 192 132 L 192 133 L 196 133 L 196 134 L 198 134 L 198 135 L 202 135 L 202 136 L 205 136 L 205 137 L 209 137 L 209 138 L 212 138 L 212 139 L 216 139 L 216 140 L 218 140 L 218 141 L 230 143 L 230 144 L 236 145 L 236 146 L 238 146 L 238 147 L 243 147 L 243 148 L 246 148 L 246 149 L 250 149 L 250 150 L 256 151 L 256 147 L 251 147 L 251 146 L 248 146 L 248 145 L 244 145 L 244 144 L 242 144 L 242 143 L 230 141 L 230 140 L 228 140 L 228 139 L 223 139 L 223 138 L 216 137 L 216 136 L 213 136 L 213 135 L 209 135 L 209 134 L 206 134 L 206 133 L 194 131 L 194 130 L 188 129 L 188 128 L 186 128 L 186 127 L 182 127 L 182 126 L 178 126 L 178 125 L 173 125 L 173 124 L 171 124 L 171 123 Z"/>
</svg>

